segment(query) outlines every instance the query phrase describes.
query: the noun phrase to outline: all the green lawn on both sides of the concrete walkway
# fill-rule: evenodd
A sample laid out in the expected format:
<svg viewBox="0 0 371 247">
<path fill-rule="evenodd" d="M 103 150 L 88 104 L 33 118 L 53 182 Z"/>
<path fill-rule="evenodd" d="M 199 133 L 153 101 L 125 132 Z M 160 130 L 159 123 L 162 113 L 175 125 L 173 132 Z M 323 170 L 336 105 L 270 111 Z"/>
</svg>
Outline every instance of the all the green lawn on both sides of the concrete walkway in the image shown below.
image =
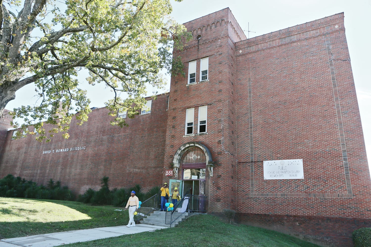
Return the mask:
<svg viewBox="0 0 371 247">
<path fill-rule="evenodd" d="M 11 238 L 127 224 L 128 213 L 114 209 L 110 206 L 97 207 L 69 201 L 0 197 L 0 234 L 1 238 Z M 211 215 L 192 216 L 173 228 L 65 246 L 317 247 L 276 231 L 228 224 Z"/>
</svg>

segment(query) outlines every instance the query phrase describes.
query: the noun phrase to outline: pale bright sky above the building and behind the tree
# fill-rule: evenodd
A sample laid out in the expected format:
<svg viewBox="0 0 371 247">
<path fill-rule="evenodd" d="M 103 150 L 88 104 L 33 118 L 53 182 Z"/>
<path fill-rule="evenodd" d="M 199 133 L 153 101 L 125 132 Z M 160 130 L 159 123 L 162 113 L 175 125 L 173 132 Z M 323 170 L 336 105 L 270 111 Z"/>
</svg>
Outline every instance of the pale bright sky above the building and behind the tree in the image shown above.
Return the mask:
<svg viewBox="0 0 371 247">
<path fill-rule="evenodd" d="M 368 157 L 371 157 L 371 83 L 369 76 L 371 32 L 368 27 L 371 0 L 183 0 L 180 3 L 171 0 L 171 2 L 173 4 L 171 16 L 178 23 L 185 23 L 229 7 L 240 27 L 246 30 L 246 37 L 250 38 L 344 12 L 345 35 L 366 150 Z M 81 75 L 81 80 L 83 76 Z M 168 85 L 170 85 L 170 78 L 168 80 Z M 103 85 L 86 85 L 85 88 L 92 101 L 91 107 L 102 107 L 104 102 L 112 97 L 111 92 Z M 16 99 L 9 102 L 6 109 L 12 110 L 21 105 L 34 104 L 36 99 L 29 94 L 29 91 L 33 89 L 34 86 L 29 85 L 19 90 L 16 93 Z M 166 91 L 169 91 L 169 86 Z M 371 170 L 370 162 L 369 166 Z"/>
</svg>

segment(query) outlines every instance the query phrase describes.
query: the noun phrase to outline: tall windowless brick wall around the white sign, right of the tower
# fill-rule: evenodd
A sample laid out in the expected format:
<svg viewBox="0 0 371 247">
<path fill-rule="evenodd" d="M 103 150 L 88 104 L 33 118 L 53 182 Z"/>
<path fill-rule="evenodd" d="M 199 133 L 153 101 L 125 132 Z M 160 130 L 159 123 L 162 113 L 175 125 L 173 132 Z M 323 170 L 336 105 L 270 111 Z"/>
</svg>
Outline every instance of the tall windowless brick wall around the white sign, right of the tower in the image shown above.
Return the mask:
<svg viewBox="0 0 371 247">
<path fill-rule="evenodd" d="M 238 42 L 236 63 L 239 220 L 352 246 L 371 197 L 343 14 Z M 264 160 L 298 158 L 304 179 L 263 179 Z"/>
</svg>

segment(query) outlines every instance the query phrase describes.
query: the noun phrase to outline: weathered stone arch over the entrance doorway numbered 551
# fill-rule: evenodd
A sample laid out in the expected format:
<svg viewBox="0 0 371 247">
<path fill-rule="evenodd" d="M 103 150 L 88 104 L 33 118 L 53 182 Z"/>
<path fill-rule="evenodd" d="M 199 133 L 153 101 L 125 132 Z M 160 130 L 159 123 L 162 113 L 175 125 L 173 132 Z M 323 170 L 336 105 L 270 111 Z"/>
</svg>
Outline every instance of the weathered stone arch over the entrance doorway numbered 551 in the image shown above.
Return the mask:
<svg viewBox="0 0 371 247">
<path fill-rule="evenodd" d="M 211 152 L 210 152 L 209 148 L 207 148 L 203 144 L 195 142 L 195 141 L 190 141 L 188 143 L 183 144 L 175 152 L 174 159 L 173 159 L 173 170 L 174 170 L 175 177 L 178 176 L 178 169 L 180 167 L 180 162 L 181 162 L 181 158 L 183 157 L 183 154 L 185 154 L 185 152 L 188 149 L 193 148 L 193 147 L 198 147 L 204 152 L 205 159 L 206 159 L 206 167 L 209 170 L 209 175 L 212 177 L 213 176 L 214 161 L 213 161 L 213 158 L 211 157 Z"/>
</svg>

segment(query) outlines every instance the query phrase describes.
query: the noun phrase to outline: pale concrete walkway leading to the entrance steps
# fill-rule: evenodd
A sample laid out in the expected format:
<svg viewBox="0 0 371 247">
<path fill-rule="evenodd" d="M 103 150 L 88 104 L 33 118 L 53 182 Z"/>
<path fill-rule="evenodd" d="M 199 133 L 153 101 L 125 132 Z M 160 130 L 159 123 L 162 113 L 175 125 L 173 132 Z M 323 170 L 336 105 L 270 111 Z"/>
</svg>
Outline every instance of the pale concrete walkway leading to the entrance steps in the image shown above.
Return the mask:
<svg viewBox="0 0 371 247">
<path fill-rule="evenodd" d="M 163 228 L 168 227 L 137 224 L 134 227 L 111 226 L 85 230 L 62 231 L 60 233 L 48 233 L 20 238 L 4 238 L 0 240 L 0 247 L 59 246 L 62 244 L 85 242 L 101 238 L 118 237 L 125 234 L 141 233 L 143 231 L 155 231 Z"/>
</svg>

